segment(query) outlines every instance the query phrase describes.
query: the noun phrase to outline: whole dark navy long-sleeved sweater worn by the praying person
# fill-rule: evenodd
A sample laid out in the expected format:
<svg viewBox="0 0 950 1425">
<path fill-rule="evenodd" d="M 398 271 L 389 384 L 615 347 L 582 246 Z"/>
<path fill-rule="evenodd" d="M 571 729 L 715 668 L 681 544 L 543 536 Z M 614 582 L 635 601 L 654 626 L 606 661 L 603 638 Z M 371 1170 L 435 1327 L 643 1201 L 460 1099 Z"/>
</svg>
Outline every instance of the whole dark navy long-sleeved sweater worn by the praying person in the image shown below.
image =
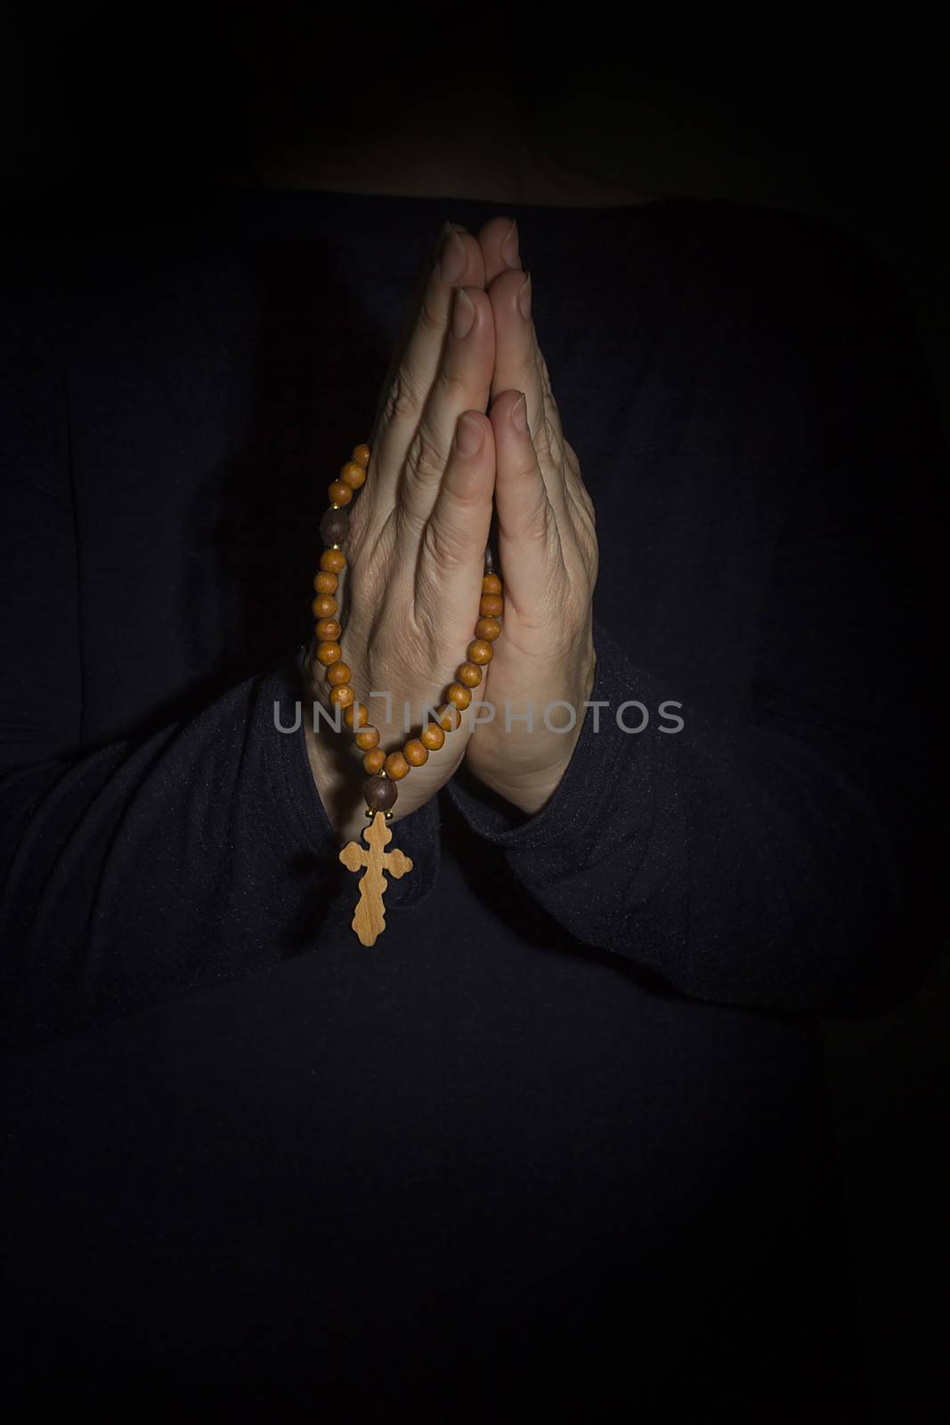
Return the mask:
<svg viewBox="0 0 950 1425">
<path fill-rule="evenodd" d="M 275 704 L 419 269 L 499 211 L 13 225 L 0 1025 L 37 1399 L 862 1418 L 816 1019 L 900 999 L 936 936 L 946 456 L 906 295 L 800 214 L 504 209 L 597 507 L 605 705 L 540 815 L 460 774 L 399 824 L 417 871 L 367 950 Z"/>
</svg>

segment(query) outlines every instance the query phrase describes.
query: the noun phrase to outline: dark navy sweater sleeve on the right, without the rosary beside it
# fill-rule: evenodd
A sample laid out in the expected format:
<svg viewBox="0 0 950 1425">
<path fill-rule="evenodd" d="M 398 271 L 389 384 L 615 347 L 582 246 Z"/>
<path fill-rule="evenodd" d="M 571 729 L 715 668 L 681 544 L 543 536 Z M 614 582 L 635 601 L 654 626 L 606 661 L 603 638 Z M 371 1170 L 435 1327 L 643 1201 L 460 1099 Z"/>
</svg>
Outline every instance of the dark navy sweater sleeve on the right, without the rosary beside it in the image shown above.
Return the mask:
<svg viewBox="0 0 950 1425">
<path fill-rule="evenodd" d="M 607 705 L 547 805 L 526 819 L 471 778 L 451 788 L 577 940 L 699 1000 L 873 1013 L 937 939 L 930 536 L 947 467 L 903 286 L 883 264 L 875 278 L 847 322 L 818 323 L 826 437 L 802 440 L 776 522 L 741 714 L 712 700 L 658 715 L 677 688 L 595 618 L 591 701 Z M 640 732 L 620 725 L 642 721 L 631 700 L 651 714 Z"/>
</svg>

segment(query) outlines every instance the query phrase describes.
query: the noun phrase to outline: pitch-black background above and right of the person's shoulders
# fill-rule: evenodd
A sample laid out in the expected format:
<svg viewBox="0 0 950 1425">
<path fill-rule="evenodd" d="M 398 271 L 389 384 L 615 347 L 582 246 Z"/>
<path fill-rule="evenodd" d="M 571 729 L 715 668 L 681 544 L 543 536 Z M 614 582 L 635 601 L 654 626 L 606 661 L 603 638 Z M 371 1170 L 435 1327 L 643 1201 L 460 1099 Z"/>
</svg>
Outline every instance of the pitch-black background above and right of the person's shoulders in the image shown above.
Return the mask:
<svg viewBox="0 0 950 1425">
<path fill-rule="evenodd" d="M 655 194 L 810 211 L 859 234 L 904 278 L 950 432 L 950 46 L 936 10 L 870 21 L 761 7 L 742 23 L 634 11 L 618 30 L 604 11 L 555 23 L 506 9 L 433 10 L 424 28 L 390 14 L 383 31 L 369 13 L 330 23 L 323 7 L 34 6 L 6 21 L 1 46 L 4 221 L 37 190 L 61 195 L 68 224 L 98 187 L 174 194 L 182 181 L 252 178 L 248 131 L 262 118 L 372 134 L 413 86 L 417 100 L 420 78 L 437 107 L 471 88 L 487 100 L 494 74 L 544 115 L 563 162 Z M 934 663 L 943 656 L 934 648 Z M 826 1026 L 882 1422 L 950 1409 L 949 1006 L 944 949 L 912 1002 Z"/>
</svg>

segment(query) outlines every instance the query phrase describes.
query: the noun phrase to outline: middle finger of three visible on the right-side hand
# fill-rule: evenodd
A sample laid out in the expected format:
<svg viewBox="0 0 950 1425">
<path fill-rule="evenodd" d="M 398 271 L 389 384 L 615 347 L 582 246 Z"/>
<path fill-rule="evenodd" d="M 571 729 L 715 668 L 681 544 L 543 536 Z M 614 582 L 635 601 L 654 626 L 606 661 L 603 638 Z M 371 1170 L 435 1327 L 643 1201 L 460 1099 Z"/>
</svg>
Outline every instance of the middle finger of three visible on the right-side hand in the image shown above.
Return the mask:
<svg viewBox="0 0 950 1425">
<path fill-rule="evenodd" d="M 496 400 L 511 389 L 524 392 L 531 443 L 547 482 L 548 499 L 561 517 L 565 513 L 567 499 L 561 459 L 561 419 L 551 393 L 547 365 L 537 345 L 530 284 L 530 274 L 507 271 L 497 276 L 489 289 L 496 331 L 491 399 Z"/>
</svg>

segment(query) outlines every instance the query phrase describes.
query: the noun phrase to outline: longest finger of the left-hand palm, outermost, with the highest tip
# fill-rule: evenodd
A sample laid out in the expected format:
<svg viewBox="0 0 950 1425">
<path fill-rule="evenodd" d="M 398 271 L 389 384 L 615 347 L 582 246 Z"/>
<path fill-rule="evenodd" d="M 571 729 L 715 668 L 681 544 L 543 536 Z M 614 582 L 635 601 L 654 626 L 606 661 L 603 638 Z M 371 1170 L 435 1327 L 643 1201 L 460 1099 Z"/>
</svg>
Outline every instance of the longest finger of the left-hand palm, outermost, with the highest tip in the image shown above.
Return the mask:
<svg viewBox="0 0 950 1425">
<path fill-rule="evenodd" d="M 409 304 L 370 428 L 370 487 L 383 506 L 396 499 L 399 472 L 439 373 L 454 294 L 460 286 L 484 286 L 477 238 L 459 224 L 446 227 L 450 231 L 443 229 Z"/>
</svg>

